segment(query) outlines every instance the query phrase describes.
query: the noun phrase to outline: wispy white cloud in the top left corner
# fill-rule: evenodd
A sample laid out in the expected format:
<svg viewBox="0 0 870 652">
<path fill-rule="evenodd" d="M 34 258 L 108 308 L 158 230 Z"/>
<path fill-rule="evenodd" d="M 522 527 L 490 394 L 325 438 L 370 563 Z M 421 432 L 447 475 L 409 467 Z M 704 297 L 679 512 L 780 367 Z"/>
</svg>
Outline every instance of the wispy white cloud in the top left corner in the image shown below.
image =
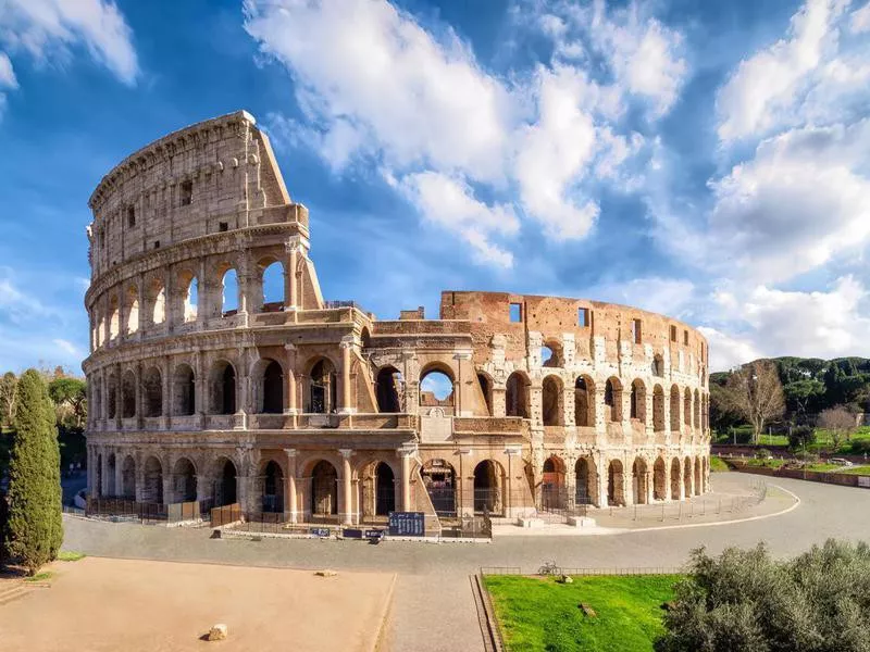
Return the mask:
<svg viewBox="0 0 870 652">
<path fill-rule="evenodd" d="M 136 82 L 133 34 L 111 0 L 4 0 L 1 9 L 0 42 L 9 52 L 55 62 L 70 59 L 71 48 L 82 45 L 119 79 Z"/>
</svg>

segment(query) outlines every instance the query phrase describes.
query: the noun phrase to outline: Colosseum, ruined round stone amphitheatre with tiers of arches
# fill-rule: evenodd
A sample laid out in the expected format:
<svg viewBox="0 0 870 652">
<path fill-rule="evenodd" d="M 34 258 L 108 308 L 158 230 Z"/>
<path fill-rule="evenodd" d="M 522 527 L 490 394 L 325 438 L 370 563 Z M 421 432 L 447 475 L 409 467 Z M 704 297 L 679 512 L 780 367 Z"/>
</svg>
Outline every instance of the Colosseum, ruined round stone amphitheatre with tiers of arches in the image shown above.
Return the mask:
<svg viewBox="0 0 870 652">
<path fill-rule="evenodd" d="M 445 291 L 437 319 L 325 300 L 244 111 L 132 154 L 89 205 L 92 497 L 435 531 L 708 489 L 697 330 L 585 299 Z"/>
</svg>

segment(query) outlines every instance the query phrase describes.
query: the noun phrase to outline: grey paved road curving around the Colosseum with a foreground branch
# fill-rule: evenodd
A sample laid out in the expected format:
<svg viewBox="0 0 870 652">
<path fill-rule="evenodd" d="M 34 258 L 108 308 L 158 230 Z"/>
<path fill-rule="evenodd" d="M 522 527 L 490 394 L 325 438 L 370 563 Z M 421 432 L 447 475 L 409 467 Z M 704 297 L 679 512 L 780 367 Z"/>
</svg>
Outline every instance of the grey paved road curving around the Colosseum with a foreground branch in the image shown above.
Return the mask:
<svg viewBox="0 0 870 652">
<path fill-rule="evenodd" d="M 714 474 L 714 491 L 746 490 L 756 476 Z M 490 544 L 319 540 L 213 540 L 210 530 L 167 529 L 66 518 L 64 548 L 88 554 L 169 559 L 222 564 L 393 570 L 398 574 L 388 643 L 391 650 L 482 650 L 468 575 L 481 566 L 520 566 L 545 560 L 574 567 L 668 567 L 706 546 L 766 541 L 776 555 L 793 555 L 829 537 L 870 540 L 870 491 L 850 487 L 770 478 L 770 485 L 797 494 L 800 505 L 779 516 L 720 527 L 688 527 L 618 536 L 504 537 Z"/>
</svg>

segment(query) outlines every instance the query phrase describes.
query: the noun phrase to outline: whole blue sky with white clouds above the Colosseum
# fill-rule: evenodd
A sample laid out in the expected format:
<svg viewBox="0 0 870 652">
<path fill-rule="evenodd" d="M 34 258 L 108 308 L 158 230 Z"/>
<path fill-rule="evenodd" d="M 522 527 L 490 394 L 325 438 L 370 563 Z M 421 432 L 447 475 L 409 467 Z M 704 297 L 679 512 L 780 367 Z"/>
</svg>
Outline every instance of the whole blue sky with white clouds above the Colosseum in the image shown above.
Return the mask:
<svg viewBox="0 0 870 652">
<path fill-rule="evenodd" d="M 0 0 L 0 369 L 87 355 L 87 200 L 246 109 L 327 299 L 556 294 L 711 369 L 870 356 L 865 0 Z"/>
</svg>

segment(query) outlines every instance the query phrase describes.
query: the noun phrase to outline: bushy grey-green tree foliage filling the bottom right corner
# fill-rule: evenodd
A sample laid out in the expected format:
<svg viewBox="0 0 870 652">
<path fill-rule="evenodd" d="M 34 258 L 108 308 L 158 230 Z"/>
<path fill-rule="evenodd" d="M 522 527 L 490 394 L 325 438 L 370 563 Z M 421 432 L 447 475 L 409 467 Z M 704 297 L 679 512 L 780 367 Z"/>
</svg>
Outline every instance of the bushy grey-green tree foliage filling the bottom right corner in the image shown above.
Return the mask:
<svg viewBox="0 0 870 652">
<path fill-rule="evenodd" d="M 870 548 L 828 540 L 791 561 L 763 544 L 692 552 L 657 652 L 870 650 Z"/>
</svg>

